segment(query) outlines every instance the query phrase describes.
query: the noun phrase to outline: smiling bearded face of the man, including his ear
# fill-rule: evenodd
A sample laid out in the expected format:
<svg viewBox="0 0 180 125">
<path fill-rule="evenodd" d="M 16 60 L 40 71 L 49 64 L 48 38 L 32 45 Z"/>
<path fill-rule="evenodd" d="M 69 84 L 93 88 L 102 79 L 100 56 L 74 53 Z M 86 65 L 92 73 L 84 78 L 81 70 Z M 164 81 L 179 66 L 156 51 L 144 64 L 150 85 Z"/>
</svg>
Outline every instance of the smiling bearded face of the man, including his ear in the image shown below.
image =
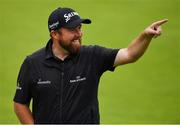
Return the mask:
<svg viewBox="0 0 180 125">
<path fill-rule="evenodd" d="M 60 47 L 69 53 L 76 54 L 79 52 L 82 38 L 81 25 L 72 29 L 62 27 L 58 31 L 54 31 L 51 36 Z"/>
</svg>

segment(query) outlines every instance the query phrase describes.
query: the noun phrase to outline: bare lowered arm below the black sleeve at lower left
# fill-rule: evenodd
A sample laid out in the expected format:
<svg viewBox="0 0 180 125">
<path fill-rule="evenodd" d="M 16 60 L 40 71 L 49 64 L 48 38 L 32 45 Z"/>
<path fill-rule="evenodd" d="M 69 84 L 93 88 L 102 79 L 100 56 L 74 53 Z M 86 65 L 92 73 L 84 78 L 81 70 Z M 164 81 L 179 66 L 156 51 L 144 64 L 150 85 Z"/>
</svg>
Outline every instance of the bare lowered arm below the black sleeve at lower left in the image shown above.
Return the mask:
<svg viewBox="0 0 180 125">
<path fill-rule="evenodd" d="M 27 105 L 15 102 L 14 111 L 22 124 L 34 124 L 32 113 Z"/>
</svg>

